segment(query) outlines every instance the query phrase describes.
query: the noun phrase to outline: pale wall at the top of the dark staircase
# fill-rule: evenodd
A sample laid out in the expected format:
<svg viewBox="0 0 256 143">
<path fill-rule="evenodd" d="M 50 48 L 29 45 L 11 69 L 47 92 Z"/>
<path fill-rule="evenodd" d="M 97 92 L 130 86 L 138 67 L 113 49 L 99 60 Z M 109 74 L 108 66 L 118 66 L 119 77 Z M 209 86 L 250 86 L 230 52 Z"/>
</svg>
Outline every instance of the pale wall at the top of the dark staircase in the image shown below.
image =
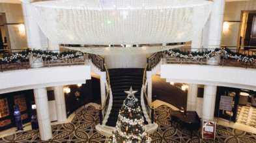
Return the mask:
<svg viewBox="0 0 256 143">
<path fill-rule="evenodd" d="M 124 54 L 104 56 L 108 69 L 115 68 L 145 68 L 149 54 Z"/>
</svg>

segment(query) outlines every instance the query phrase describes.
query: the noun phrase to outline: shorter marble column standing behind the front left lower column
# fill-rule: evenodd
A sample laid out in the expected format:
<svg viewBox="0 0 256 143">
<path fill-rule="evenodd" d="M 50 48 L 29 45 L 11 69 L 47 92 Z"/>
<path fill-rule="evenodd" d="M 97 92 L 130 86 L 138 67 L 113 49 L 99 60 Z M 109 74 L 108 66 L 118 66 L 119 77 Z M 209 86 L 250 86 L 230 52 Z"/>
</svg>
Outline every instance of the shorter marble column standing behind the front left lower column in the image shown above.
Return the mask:
<svg viewBox="0 0 256 143">
<path fill-rule="evenodd" d="M 63 86 L 54 87 L 54 98 L 56 105 L 56 113 L 58 122 L 64 122 L 66 120 L 66 104 Z"/>
</svg>

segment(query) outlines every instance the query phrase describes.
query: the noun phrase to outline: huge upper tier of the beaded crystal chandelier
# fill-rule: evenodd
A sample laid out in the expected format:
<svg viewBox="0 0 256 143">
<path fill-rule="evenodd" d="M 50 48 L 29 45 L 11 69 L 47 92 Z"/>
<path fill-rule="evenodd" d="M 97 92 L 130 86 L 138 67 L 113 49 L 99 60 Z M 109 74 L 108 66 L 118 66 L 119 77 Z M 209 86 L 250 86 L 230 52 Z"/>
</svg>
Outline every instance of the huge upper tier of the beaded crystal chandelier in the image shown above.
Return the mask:
<svg viewBox="0 0 256 143">
<path fill-rule="evenodd" d="M 206 0 L 34 0 L 33 18 L 51 41 L 138 45 L 191 41 L 205 25 Z"/>
</svg>

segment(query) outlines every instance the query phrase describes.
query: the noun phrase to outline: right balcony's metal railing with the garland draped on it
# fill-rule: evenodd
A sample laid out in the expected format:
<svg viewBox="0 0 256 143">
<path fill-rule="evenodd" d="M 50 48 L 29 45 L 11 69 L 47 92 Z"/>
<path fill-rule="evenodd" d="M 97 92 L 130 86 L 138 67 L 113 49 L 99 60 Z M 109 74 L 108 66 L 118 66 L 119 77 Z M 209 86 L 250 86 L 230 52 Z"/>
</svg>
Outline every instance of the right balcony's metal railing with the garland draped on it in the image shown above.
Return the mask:
<svg viewBox="0 0 256 143">
<path fill-rule="evenodd" d="M 246 49 L 246 48 L 245 48 Z M 256 50 L 221 46 L 221 49 L 191 49 L 180 47 L 165 51 L 165 63 L 220 65 L 256 68 Z M 211 63 L 214 61 L 215 63 Z"/>
</svg>

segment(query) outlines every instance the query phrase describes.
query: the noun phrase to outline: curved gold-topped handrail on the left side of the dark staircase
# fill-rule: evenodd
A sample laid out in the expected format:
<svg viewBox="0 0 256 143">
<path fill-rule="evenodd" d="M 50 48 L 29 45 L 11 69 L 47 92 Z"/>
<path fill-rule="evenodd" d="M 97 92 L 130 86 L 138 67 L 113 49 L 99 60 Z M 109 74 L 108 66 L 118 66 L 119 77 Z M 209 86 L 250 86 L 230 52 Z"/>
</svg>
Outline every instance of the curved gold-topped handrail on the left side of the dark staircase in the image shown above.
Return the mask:
<svg viewBox="0 0 256 143">
<path fill-rule="evenodd" d="M 100 110 L 100 124 L 102 124 L 102 120 L 104 118 L 104 116 L 106 115 L 106 104 L 107 101 L 109 102 L 109 93 L 110 93 L 110 78 L 109 78 L 109 71 L 107 70 L 107 65 L 104 63 L 104 67 L 105 67 L 105 70 L 107 72 L 107 95 L 106 95 L 106 98 L 104 100 L 104 104 L 103 105 L 100 105 L 99 107 L 99 110 Z M 104 111 L 104 113 L 102 113 Z"/>
</svg>

